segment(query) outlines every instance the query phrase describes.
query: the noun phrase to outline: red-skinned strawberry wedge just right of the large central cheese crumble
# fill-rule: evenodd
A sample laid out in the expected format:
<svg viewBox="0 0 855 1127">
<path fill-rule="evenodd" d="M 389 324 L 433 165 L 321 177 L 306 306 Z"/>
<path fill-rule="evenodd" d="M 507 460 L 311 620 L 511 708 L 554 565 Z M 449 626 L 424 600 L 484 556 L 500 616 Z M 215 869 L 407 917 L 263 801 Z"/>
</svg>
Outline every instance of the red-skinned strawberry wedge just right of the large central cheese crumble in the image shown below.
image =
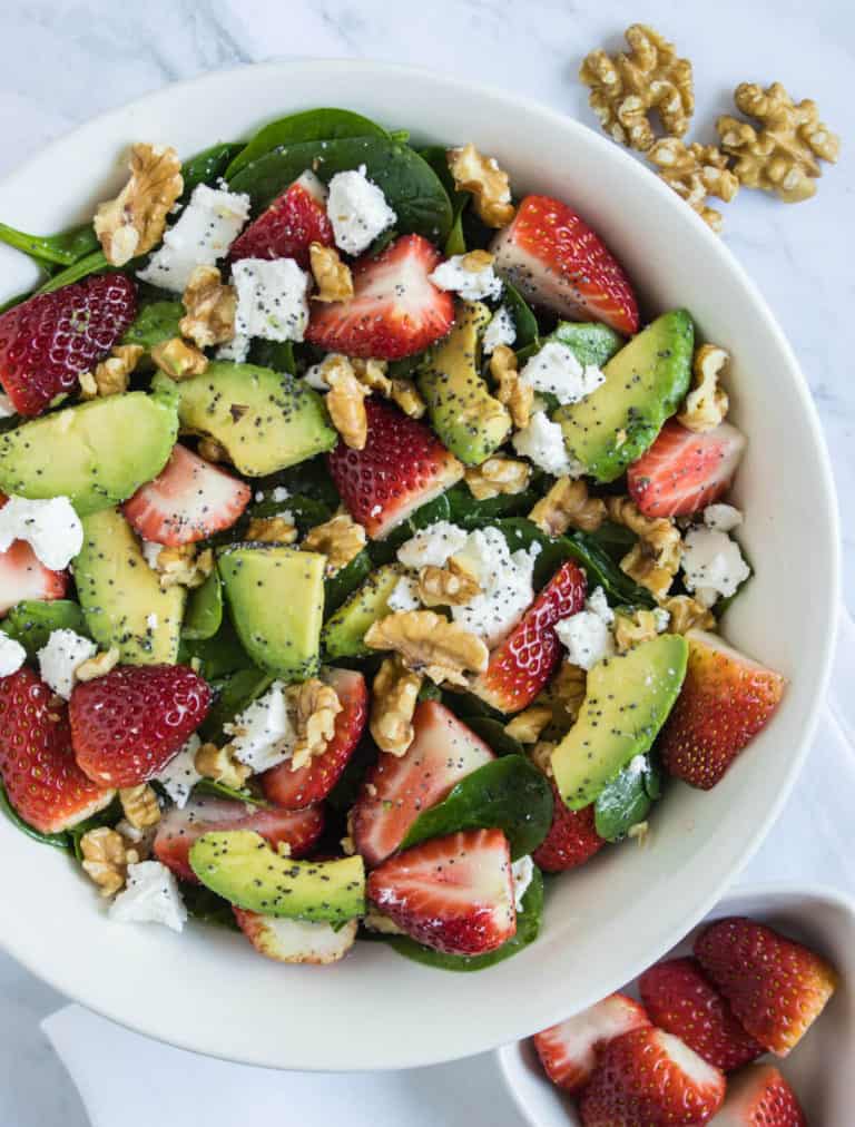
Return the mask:
<svg viewBox="0 0 855 1127">
<path fill-rule="evenodd" d="M 472 685 L 488 704 L 518 712 L 532 703 L 561 659 L 553 627 L 585 605 L 585 573 L 562 564 L 508 637 L 490 655 L 487 671 Z"/>
</svg>

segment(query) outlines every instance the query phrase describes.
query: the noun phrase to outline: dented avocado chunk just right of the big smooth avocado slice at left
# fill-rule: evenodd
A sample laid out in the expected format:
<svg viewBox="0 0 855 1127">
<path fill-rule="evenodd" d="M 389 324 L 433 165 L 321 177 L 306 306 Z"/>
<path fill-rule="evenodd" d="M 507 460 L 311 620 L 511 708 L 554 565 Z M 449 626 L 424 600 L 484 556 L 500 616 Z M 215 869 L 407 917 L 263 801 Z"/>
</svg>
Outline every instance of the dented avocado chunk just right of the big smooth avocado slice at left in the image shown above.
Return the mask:
<svg viewBox="0 0 855 1127">
<path fill-rule="evenodd" d="M 159 375 L 154 385 L 167 380 Z M 177 388 L 181 428 L 216 438 L 248 477 L 284 470 L 338 442 L 321 396 L 286 372 L 215 362 Z"/>
</svg>

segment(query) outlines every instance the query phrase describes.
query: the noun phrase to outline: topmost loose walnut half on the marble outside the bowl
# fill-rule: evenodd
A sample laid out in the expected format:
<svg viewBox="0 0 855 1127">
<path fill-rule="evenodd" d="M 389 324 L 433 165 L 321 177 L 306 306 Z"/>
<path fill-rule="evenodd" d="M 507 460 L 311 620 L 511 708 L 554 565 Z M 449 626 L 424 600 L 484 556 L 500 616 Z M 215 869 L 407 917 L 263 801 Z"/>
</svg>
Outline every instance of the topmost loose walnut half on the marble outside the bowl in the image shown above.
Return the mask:
<svg viewBox="0 0 855 1127">
<path fill-rule="evenodd" d="M 591 51 L 579 79 L 590 87 L 588 103 L 608 135 L 641 152 L 656 140 L 649 114 L 657 110 L 668 136 L 682 137 L 695 112 L 692 63 L 652 27 L 626 28 L 629 54 L 611 57 Z"/>
</svg>

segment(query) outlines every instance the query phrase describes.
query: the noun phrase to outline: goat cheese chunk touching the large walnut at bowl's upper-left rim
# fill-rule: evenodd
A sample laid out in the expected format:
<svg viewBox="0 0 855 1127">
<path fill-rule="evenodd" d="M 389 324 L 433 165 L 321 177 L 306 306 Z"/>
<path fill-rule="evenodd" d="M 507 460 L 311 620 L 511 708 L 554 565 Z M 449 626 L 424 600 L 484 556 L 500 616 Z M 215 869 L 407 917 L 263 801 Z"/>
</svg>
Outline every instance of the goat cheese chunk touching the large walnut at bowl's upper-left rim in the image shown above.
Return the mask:
<svg viewBox="0 0 855 1127">
<path fill-rule="evenodd" d="M 149 265 L 136 276 L 171 293 L 184 293 L 197 266 L 213 266 L 226 256 L 249 219 L 249 208 L 248 195 L 199 184 Z"/>
</svg>

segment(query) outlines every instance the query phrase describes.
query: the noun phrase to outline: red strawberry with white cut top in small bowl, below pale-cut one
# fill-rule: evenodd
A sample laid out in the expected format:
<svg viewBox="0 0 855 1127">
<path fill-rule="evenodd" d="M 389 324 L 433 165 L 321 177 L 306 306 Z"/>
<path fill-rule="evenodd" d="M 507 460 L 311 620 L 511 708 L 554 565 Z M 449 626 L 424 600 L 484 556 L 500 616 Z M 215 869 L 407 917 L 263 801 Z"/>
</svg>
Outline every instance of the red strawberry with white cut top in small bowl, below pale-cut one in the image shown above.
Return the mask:
<svg viewBox="0 0 855 1127">
<path fill-rule="evenodd" d="M 581 1095 L 585 1127 L 709 1122 L 724 1076 L 677 1037 L 635 1029 L 611 1041 Z"/>
</svg>

